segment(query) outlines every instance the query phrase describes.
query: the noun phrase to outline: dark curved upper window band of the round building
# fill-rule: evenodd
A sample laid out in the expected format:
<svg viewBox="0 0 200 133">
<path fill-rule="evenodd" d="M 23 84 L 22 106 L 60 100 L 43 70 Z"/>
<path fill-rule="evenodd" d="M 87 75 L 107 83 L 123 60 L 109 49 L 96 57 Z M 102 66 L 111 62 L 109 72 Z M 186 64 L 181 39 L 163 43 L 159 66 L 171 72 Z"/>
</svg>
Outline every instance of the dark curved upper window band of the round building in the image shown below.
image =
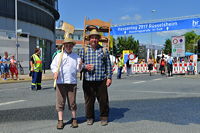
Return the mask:
<svg viewBox="0 0 200 133">
<path fill-rule="evenodd" d="M 52 0 L 47 1 L 51 3 Z M 0 0 L 0 16 L 15 18 L 15 1 L 14 0 Z M 44 11 L 35 7 L 18 2 L 18 19 L 46 27 L 54 32 L 55 19 Z"/>
</svg>

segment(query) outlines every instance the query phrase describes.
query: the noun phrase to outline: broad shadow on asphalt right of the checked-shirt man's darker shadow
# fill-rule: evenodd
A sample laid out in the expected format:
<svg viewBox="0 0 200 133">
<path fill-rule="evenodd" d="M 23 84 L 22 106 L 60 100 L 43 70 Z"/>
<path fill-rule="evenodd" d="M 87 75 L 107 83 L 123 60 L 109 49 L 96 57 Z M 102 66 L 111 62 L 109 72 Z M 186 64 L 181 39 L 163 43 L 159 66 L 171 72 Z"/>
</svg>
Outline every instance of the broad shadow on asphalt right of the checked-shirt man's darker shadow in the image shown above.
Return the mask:
<svg viewBox="0 0 200 133">
<path fill-rule="evenodd" d="M 112 106 L 128 108 L 116 122 L 150 120 L 178 125 L 200 124 L 200 98 L 164 98 L 118 101 Z"/>
</svg>

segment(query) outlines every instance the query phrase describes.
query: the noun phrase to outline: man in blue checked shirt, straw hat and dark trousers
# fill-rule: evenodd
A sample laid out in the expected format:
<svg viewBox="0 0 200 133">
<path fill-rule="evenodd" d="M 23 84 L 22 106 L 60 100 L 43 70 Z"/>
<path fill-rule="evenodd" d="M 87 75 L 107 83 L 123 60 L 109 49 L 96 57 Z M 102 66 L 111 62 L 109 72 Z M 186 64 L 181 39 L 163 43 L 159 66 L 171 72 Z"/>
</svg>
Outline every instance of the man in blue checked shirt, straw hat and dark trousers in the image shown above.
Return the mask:
<svg viewBox="0 0 200 133">
<path fill-rule="evenodd" d="M 82 49 L 80 56 L 83 60 L 83 91 L 87 124 L 92 125 L 94 122 L 94 104 L 97 98 L 101 125 L 105 126 L 108 124 L 107 87 L 112 83 L 112 66 L 108 51 L 99 45 L 100 38 L 101 35 L 96 29 L 92 30 L 89 34 L 89 45 Z"/>
</svg>

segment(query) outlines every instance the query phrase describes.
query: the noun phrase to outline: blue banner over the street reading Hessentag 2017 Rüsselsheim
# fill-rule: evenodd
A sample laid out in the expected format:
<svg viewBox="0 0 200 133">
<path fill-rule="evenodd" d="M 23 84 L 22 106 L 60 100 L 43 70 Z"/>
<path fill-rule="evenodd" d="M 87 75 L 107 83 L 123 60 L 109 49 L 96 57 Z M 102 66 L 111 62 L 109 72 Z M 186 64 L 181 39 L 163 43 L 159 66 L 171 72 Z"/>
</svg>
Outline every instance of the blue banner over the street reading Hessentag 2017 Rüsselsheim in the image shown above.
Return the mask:
<svg viewBox="0 0 200 133">
<path fill-rule="evenodd" d="M 128 35 L 137 33 L 162 32 L 194 28 L 200 28 L 200 18 L 145 23 L 137 25 L 114 26 L 111 27 L 111 35 Z"/>
</svg>

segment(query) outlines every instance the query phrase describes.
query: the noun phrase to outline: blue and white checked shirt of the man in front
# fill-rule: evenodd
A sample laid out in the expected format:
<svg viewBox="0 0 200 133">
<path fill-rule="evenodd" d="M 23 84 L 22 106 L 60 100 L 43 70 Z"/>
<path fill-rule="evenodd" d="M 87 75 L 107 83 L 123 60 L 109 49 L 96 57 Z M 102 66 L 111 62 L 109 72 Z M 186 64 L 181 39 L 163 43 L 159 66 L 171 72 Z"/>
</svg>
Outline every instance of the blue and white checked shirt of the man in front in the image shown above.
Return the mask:
<svg viewBox="0 0 200 133">
<path fill-rule="evenodd" d="M 89 45 L 86 50 L 84 48 L 80 52 L 80 57 L 84 63 L 83 68 L 87 64 L 94 64 L 94 70 L 88 71 L 84 69 L 84 78 L 87 81 L 102 81 L 105 78 L 112 78 L 112 66 L 108 50 L 103 51 L 103 47 L 98 45 L 93 50 Z"/>
</svg>

